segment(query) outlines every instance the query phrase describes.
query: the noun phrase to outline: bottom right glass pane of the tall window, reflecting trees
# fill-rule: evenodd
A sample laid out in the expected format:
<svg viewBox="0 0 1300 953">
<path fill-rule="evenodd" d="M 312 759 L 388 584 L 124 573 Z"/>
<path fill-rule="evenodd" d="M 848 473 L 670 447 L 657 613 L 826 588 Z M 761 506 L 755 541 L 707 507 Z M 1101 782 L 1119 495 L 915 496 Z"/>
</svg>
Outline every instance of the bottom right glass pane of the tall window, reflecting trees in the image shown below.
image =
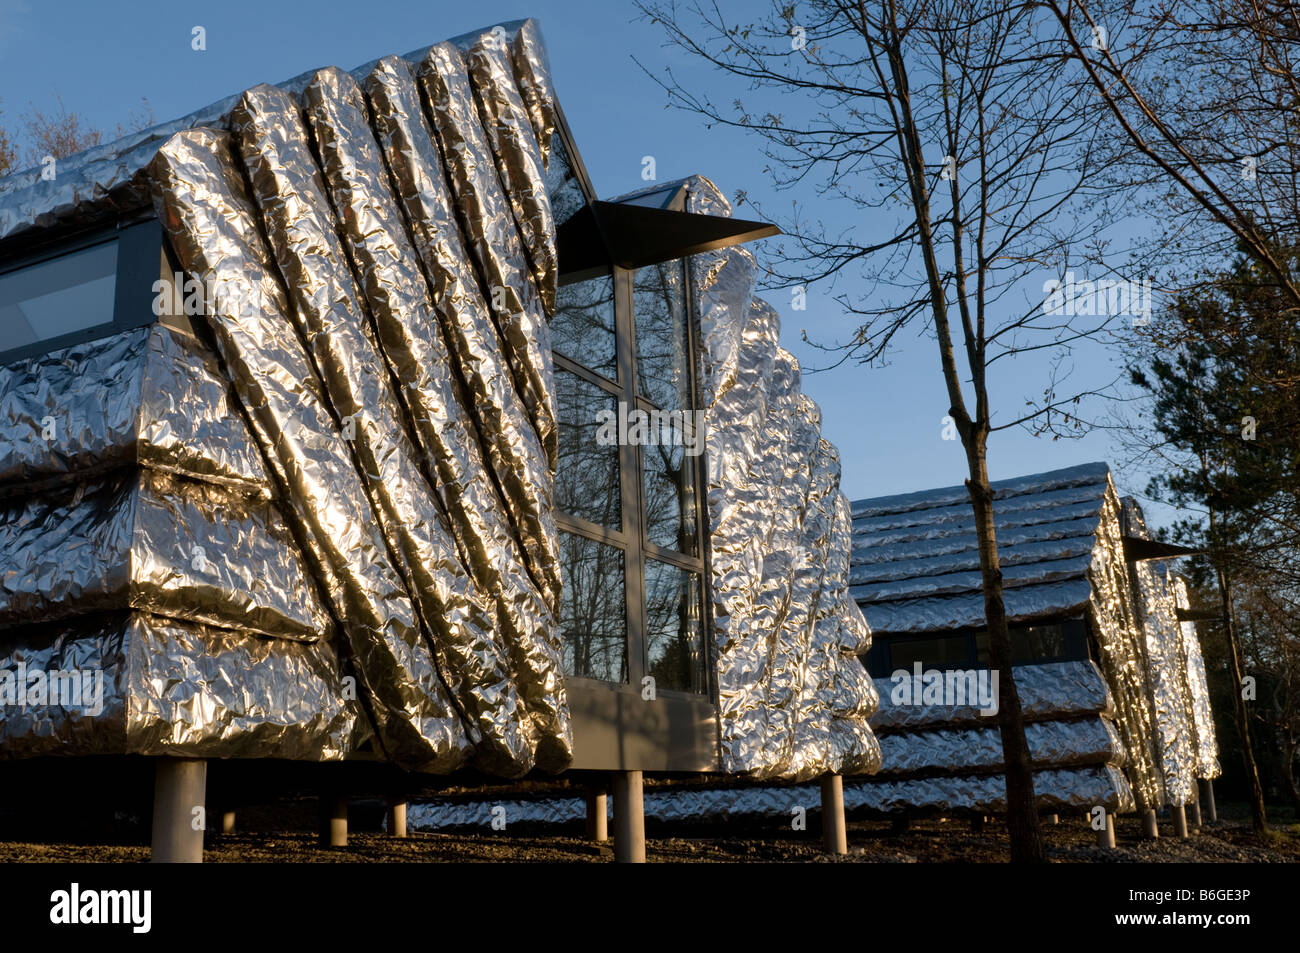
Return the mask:
<svg viewBox="0 0 1300 953">
<path fill-rule="evenodd" d="M 655 688 L 705 693 L 699 573 L 646 559 L 646 667 Z"/>
</svg>

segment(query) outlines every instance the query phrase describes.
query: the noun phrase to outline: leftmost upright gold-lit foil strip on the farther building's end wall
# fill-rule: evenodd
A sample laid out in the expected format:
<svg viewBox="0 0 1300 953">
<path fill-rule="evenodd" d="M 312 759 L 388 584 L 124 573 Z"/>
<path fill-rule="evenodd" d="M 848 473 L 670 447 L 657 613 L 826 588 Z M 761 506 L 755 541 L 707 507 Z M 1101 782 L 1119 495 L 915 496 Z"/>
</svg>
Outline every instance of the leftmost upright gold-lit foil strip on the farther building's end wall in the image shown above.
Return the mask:
<svg viewBox="0 0 1300 953">
<path fill-rule="evenodd" d="M 1115 725 L 1124 741 L 1124 772 L 1139 810 L 1164 806 L 1165 785 L 1156 750 L 1158 729 L 1147 692 L 1148 670 L 1124 559 L 1119 498 L 1106 481 L 1097 545 L 1088 568 L 1092 624 L 1101 671 L 1115 699 Z"/>
</svg>

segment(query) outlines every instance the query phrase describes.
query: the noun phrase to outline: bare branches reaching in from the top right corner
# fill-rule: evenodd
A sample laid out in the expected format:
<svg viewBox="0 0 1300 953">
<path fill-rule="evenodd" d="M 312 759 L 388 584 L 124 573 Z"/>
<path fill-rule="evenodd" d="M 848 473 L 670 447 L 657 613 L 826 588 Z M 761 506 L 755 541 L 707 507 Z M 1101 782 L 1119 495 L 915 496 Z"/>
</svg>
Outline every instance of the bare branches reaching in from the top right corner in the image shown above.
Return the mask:
<svg viewBox="0 0 1300 953">
<path fill-rule="evenodd" d="M 1300 225 L 1300 4 L 1295 0 L 1046 0 L 1117 133 L 1112 161 L 1149 185 L 1178 290 L 1236 252 L 1290 308 L 1300 281 L 1277 255 Z M 1186 274 L 1192 272 L 1192 274 Z M 1200 273 L 1197 273 L 1200 272 Z"/>
</svg>

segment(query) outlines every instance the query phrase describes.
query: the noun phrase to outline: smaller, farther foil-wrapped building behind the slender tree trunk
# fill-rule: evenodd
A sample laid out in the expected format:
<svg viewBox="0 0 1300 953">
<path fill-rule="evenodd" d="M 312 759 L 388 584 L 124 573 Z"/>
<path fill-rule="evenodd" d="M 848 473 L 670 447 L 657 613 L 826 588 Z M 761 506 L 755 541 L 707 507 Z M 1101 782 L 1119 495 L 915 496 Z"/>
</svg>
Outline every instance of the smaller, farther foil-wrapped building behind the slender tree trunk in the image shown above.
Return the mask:
<svg viewBox="0 0 1300 953">
<path fill-rule="evenodd" d="M 1180 555 L 1150 540 L 1109 467 L 1086 464 L 1000 481 L 998 558 L 1015 683 L 1045 810 L 1182 806 L 1195 797 L 1208 706 L 1195 631 L 1175 614 Z M 853 504 L 853 597 L 876 644 L 884 767 L 853 800 L 879 811 L 994 811 L 1002 797 L 996 716 L 920 689 L 987 670 L 976 541 L 966 489 Z M 1188 645 L 1190 642 L 1190 645 Z M 1190 660 L 1195 659 L 1195 660 Z M 1204 672 L 1204 668 L 1200 668 Z M 927 683 L 928 684 L 928 683 Z M 1213 741 L 1210 740 L 1210 745 Z"/>
</svg>

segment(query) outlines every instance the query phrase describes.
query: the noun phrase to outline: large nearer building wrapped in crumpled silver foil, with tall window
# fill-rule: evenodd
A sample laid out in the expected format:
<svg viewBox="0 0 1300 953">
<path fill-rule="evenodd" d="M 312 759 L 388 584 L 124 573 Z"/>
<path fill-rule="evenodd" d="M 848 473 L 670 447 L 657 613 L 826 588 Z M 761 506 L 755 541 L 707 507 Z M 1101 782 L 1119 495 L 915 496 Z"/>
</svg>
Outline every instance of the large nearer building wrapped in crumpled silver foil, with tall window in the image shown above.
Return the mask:
<svg viewBox="0 0 1300 953">
<path fill-rule="evenodd" d="M 772 231 L 599 202 L 533 21 L 0 179 L 0 757 L 875 770 Z"/>
</svg>

